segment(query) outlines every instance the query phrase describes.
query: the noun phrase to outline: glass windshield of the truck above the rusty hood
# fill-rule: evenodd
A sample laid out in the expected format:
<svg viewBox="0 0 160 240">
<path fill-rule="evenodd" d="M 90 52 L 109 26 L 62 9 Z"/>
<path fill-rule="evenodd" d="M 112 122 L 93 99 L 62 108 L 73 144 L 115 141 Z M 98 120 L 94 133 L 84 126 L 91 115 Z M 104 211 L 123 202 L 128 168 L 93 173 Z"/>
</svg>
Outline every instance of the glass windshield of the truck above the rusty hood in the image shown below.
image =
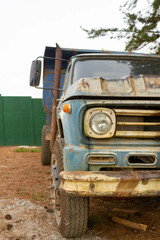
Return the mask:
<svg viewBox="0 0 160 240">
<path fill-rule="evenodd" d="M 158 60 L 111 60 L 90 59 L 77 61 L 74 67 L 73 82 L 80 78 L 120 79 L 124 76 L 160 74 Z"/>
</svg>

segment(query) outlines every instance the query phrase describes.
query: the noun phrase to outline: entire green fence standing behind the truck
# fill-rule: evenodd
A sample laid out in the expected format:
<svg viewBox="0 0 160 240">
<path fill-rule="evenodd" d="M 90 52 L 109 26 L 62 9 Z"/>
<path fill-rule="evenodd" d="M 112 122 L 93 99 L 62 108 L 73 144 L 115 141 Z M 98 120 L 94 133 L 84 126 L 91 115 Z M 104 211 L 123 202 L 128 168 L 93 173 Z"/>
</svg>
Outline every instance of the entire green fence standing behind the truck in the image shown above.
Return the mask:
<svg viewBox="0 0 160 240">
<path fill-rule="evenodd" d="M 0 96 L 0 145 L 41 145 L 42 99 Z"/>
</svg>

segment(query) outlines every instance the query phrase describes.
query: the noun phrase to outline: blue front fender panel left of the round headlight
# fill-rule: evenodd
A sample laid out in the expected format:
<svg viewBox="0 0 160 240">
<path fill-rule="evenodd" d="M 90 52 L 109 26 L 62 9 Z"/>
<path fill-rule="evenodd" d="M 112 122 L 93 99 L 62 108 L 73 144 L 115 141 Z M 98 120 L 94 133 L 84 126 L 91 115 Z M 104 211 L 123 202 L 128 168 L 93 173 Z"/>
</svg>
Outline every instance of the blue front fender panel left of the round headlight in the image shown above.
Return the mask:
<svg viewBox="0 0 160 240">
<path fill-rule="evenodd" d="M 63 112 L 64 104 L 71 104 L 71 114 Z M 65 147 L 64 147 L 64 170 L 65 171 L 87 171 L 89 154 L 88 140 L 83 131 L 83 118 L 86 111 L 84 100 L 71 100 L 60 104 L 57 117 L 61 119 Z"/>
</svg>

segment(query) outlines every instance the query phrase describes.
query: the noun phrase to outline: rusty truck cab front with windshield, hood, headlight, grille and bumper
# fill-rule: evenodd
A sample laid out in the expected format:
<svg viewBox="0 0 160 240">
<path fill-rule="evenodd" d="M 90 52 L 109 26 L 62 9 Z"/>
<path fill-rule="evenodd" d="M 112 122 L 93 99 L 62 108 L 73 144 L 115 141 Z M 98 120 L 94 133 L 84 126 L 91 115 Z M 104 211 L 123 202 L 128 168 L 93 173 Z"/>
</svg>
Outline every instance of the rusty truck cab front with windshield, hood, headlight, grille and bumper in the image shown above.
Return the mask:
<svg viewBox="0 0 160 240">
<path fill-rule="evenodd" d="M 61 191 L 160 195 L 160 58 L 79 55 L 69 74 L 58 108 L 65 139 Z"/>
</svg>

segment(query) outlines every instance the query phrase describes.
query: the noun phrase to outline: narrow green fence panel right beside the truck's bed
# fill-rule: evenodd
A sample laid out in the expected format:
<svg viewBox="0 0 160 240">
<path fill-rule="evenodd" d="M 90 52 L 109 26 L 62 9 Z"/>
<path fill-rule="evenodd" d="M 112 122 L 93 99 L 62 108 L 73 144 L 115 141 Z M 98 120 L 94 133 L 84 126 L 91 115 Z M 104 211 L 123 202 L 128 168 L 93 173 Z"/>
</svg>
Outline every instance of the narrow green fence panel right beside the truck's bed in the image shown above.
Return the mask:
<svg viewBox="0 0 160 240">
<path fill-rule="evenodd" d="M 41 145 L 41 137 L 42 137 L 42 127 L 45 125 L 46 114 L 44 113 L 44 109 L 42 107 L 41 99 L 32 99 L 32 107 L 33 107 L 33 117 L 34 117 L 34 136 L 35 136 L 35 145 Z"/>
</svg>

